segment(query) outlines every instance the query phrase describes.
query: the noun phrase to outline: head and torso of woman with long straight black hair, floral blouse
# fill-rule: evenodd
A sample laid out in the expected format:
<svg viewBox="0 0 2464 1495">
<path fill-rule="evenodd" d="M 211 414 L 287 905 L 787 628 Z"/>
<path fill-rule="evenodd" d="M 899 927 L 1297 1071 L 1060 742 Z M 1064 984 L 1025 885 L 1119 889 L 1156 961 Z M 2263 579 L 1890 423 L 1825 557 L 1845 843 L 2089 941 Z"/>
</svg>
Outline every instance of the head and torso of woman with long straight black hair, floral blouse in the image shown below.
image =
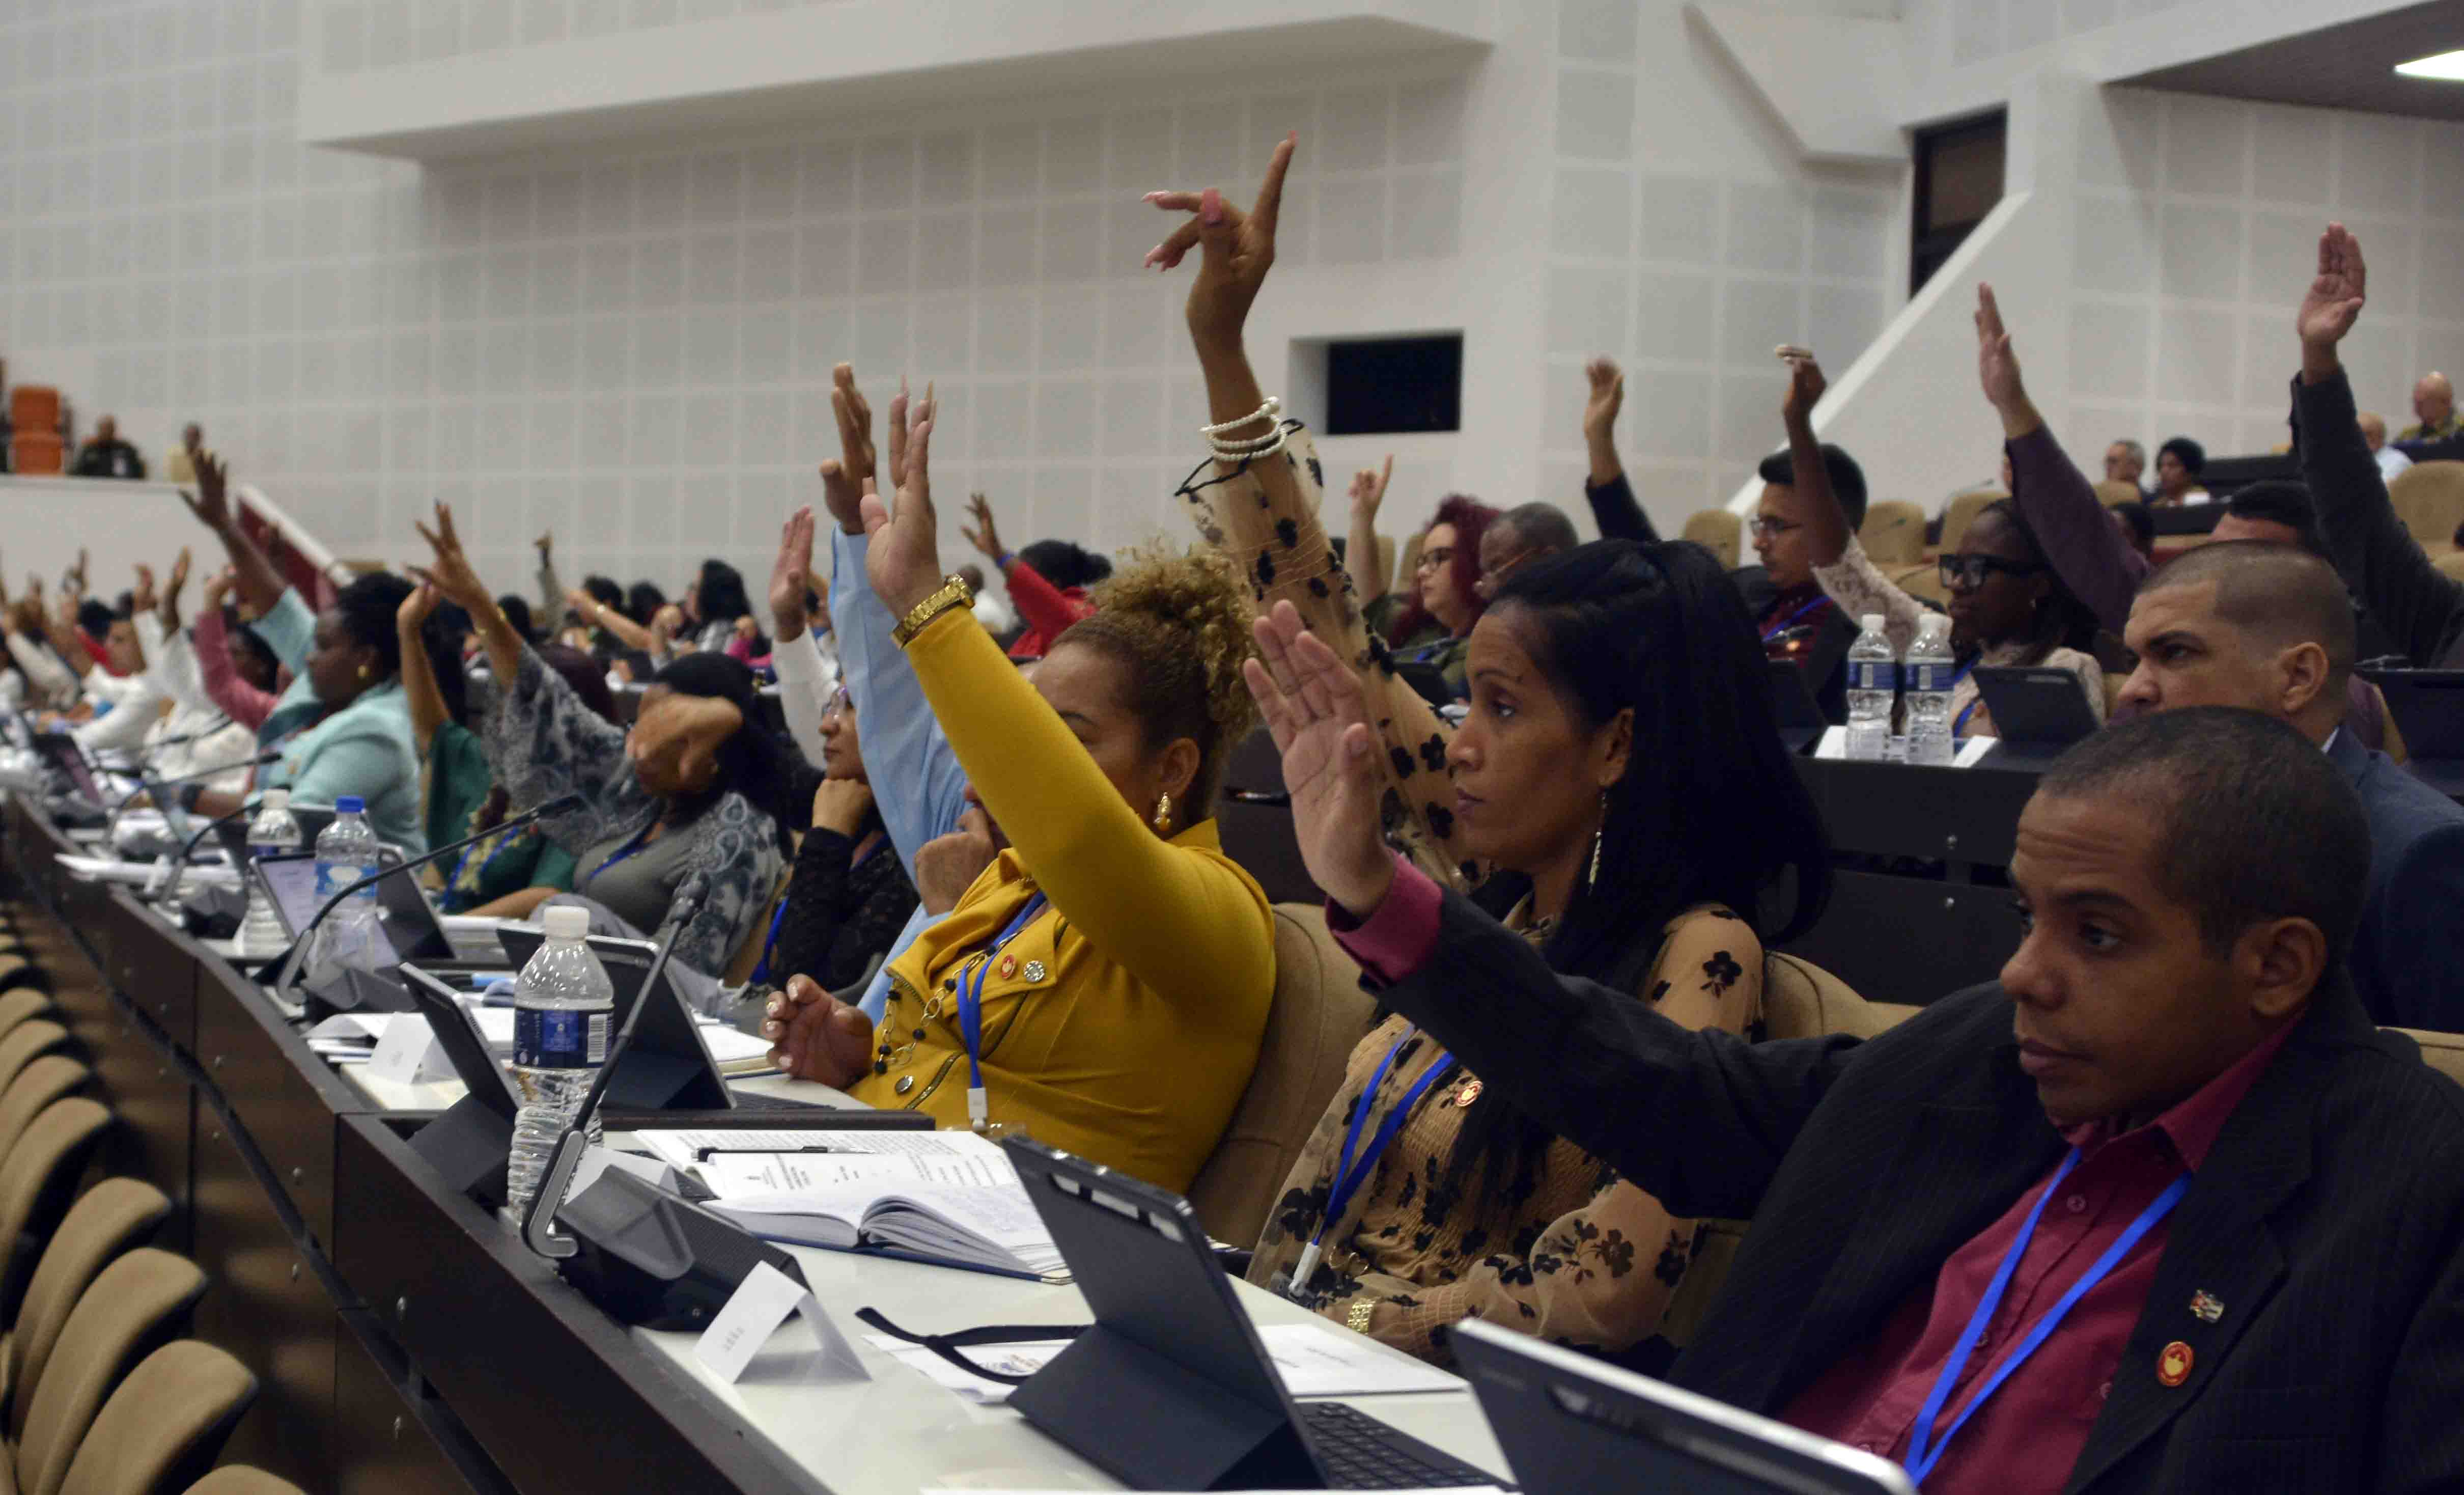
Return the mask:
<svg viewBox="0 0 2464 1495">
<path fill-rule="evenodd" d="M 1828 847 L 1720 564 L 1698 544 L 1609 539 L 1523 566 L 1473 626 L 1466 667 L 1471 714 L 1446 744 L 1456 847 L 1496 867 L 1473 904 L 1560 973 L 1688 1027 L 1752 1030 L 1762 909 L 1791 887 L 1777 938 L 1809 926 Z M 1271 722 L 1274 690 L 1259 695 Z M 1368 965 L 1392 933 L 1343 938 Z M 1510 1000 L 1498 1022 L 1513 1025 Z M 1249 1276 L 1429 1360 L 1466 1315 L 1631 1352 L 1693 1241 L 1693 1222 L 1387 1017 L 1353 1049 Z"/>
</svg>

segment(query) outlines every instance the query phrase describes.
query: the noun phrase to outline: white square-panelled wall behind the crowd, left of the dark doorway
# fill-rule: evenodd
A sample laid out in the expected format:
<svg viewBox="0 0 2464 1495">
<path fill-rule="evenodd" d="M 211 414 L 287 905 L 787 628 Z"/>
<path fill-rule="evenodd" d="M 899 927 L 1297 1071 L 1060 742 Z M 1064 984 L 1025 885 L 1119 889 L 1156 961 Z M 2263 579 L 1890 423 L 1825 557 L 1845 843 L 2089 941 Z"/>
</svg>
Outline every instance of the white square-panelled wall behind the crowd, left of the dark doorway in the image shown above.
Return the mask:
<svg viewBox="0 0 2464 1495">
<path fill-rule="evenodd" d="M 559 17 L 690 47 L 702 10 L 729 7 L 335 7 L 414 57 Z M 414 515 L 451 498 L 503 586 L 542 527 L 569 576 L 675 586 L 724 554 L 759 579 L 833 451 L 838 357 L 877 397 L 897 369 L 941 382 L 944 490 L 995 493 L 1013 539 L 1178 537 L 1202 401 L 1185 281 L 1138 271 L 1158 236 L 1138 195 L 1247 190 L 1299 128 L 1269 387 L 1289 337 L 1466 332 L 1466 429 L 1395 443 L 1397 525 L 1446 488 L 1574 507 L 1594 350 L 1636 360 L 1621 436 L 1673 525 L 1774 441 L 1772 342 L 1846 360 L 1880 328 L 1897 187 L 1799 170 L 1678 0 L 1498 15 L 1471 74 L 1296 59 L 421 170 L 296 143 L 298 0 L 20 0 L 0 10 L 10 377 L 62 384 L 86 424 L 116 411 L 155 458 L 205 421 L 342 554 L 416 554 Z M 1328 463 L 1385 446 L 1328 441 Z"/>
</svg>

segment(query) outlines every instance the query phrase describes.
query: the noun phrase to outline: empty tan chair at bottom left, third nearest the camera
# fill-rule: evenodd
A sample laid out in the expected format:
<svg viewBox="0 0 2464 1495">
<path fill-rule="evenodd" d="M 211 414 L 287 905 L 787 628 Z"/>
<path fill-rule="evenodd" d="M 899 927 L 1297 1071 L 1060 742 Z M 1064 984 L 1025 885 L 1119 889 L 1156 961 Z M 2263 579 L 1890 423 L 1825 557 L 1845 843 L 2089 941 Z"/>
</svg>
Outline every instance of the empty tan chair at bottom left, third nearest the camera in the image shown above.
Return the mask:
<svg viewBox="0 0 2464 1495">
<path fill-rule="evenodd" d="M 103 1401 L 205 1298 L 195 1261 L 140 1246 L 94 1278 L 69 1310 L 42 1379 L 25 1387 L 25 1436 L 10 1443 L 17 1495 L 59 1495 Z"/>
</svg>

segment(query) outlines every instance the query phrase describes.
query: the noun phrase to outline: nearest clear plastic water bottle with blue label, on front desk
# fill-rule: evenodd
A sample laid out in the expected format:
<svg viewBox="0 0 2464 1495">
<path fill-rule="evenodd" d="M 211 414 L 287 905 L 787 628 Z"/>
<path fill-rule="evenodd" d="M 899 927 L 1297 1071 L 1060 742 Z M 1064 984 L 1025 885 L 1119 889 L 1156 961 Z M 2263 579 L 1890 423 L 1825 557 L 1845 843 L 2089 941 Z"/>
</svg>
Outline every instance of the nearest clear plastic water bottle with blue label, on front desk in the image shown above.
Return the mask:
<svg viewBox="0 0 2464 1495">
<path fill-rule="evenodd" d="M 505 1214 L 517 1224 L 540 1192 L 557 1138 L 574 1123 L 609 1059 L 616 1015 L 616 985 L 582 938 L 591 931 L 591 911 L 554 904 L 540 924 L 547 926 L 547 943 L 513 985 L 513 1084 L 522 1091 L 522 1108 L 513 1118 Z M 599 1140 L 596 1116 L 591 1140 Z"/>
</svg>

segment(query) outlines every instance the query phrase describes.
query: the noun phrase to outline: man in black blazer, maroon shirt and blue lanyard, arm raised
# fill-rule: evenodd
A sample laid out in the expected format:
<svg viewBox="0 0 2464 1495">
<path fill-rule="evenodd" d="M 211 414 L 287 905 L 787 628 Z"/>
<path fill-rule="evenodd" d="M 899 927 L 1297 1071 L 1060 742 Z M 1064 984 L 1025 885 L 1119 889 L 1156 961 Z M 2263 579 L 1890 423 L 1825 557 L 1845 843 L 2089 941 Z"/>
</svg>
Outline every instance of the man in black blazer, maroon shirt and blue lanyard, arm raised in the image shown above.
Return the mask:
<svg viewBox="0 0 2464 1495">
<path fill-rule="evenodd" d="M 1262 653 L 1382 1000 L 1671 1212 L 1752 1217 L 1676 1384 L 1929 1493 L 2464 1485 L 2464 1091 L 2341 975 L 2368 823 L 2309 739 L 2213 707 L 2089 736 L 2020 815 L 1998 988 L 1747 1044 L 1387 855 L 1350 672 L 1289 608 Z"/>
</svg>

